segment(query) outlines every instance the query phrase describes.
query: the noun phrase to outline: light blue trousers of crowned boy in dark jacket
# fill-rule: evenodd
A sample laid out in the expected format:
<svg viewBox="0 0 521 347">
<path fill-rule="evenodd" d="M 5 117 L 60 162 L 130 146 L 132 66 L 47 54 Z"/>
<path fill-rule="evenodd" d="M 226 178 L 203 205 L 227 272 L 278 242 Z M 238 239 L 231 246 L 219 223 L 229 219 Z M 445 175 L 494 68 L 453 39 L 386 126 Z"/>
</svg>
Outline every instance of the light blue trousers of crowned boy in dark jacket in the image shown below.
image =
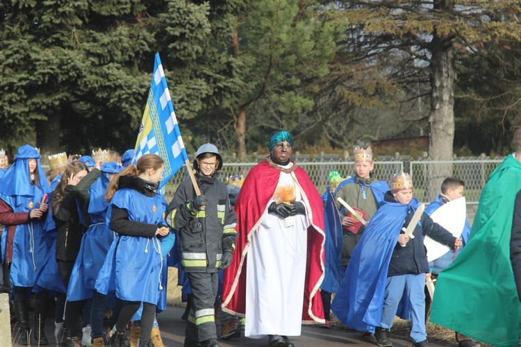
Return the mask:
<svg viewBox="0 0 521 347">
<path fill-rule="evenodd" d="M 411 338 L 414 342 L 427 339 L 425 330 L 425 273 L 407 274 L 387 278 L 386 296 L 383 299 L 381 327 L 390 329 L 402 296 L 411 303 Z"/>
</svg>

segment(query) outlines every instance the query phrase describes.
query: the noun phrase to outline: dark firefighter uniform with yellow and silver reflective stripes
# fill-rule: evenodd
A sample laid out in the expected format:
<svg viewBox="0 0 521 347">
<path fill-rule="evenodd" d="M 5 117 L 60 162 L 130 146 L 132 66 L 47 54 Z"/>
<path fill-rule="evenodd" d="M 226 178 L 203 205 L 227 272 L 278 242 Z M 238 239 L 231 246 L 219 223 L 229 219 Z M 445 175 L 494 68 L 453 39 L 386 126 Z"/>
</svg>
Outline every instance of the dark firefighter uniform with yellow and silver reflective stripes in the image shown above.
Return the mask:
<svg viewBox="0 0 521 347">
<path fill-rule="evenodd" d="M 223 252 L 235 248 L 237 217 L 231 207 L 226 185 L 213 176 L 195 174 L 201 194 L 208 203 L 203 209 L 193 208 L 196 198 L 190 178 L 176 190 L 167 209 L 167 223 L 179 233 L 181 265 L 188 273 L 193 305 L 188 317 L 186 341 L 206 341 L 217 337 L 214 303 L 217 296 L 217 271 Z"/>
</svg>

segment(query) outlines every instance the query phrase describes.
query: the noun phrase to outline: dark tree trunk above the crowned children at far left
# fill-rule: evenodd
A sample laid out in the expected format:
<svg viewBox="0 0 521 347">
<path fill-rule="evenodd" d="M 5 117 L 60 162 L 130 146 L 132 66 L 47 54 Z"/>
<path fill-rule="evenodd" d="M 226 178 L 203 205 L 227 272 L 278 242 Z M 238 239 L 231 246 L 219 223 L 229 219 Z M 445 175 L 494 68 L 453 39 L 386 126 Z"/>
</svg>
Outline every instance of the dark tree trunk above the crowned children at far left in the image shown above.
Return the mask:
<svg viewBox="0 0 521 347">
<path fill-rule="evenodd" d="M 47 115 L 46 121 L 36 122 L 36 146 L 42 157 L 60 151 L 61 112 L 56 110 Z"/>
</svg>

